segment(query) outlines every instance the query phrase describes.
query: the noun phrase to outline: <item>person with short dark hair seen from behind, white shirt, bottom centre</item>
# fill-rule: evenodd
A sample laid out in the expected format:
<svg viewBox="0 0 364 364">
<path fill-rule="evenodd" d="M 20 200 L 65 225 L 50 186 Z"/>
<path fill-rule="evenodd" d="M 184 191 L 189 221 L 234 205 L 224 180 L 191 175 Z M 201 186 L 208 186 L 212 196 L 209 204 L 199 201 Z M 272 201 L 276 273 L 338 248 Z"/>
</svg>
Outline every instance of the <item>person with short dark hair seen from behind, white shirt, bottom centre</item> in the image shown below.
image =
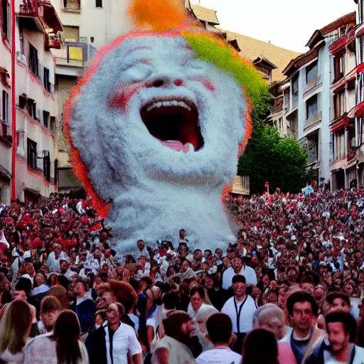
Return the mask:
<svg viewBox="0 0 364 364">
<path fill-rule="evenodd" d="M 213 314 L 206 323 L 208 338 L 213 349 L 206 350 L 196 359 L 197 364 L 240 364 L 242 355 L 230 349 L 234 338 L 230 317 L 225 314 Z"/>
</svg>

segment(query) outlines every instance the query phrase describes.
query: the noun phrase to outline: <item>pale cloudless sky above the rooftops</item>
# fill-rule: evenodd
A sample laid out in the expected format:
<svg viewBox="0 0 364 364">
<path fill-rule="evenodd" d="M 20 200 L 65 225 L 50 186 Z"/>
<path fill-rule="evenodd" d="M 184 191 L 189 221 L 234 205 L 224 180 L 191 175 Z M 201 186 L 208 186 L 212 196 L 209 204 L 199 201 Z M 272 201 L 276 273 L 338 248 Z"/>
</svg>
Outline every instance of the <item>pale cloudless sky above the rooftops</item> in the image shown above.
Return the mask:
<svg viewBox="0 0 364 364">
<path fill-rule="evenodd" d="M 191 1 L 193 2 L 193 1 Z M 355 11 L 354 0 L 200 0 L 220 26 L 282 48 L 304 52 L 316 29 Z"/>
</svg>

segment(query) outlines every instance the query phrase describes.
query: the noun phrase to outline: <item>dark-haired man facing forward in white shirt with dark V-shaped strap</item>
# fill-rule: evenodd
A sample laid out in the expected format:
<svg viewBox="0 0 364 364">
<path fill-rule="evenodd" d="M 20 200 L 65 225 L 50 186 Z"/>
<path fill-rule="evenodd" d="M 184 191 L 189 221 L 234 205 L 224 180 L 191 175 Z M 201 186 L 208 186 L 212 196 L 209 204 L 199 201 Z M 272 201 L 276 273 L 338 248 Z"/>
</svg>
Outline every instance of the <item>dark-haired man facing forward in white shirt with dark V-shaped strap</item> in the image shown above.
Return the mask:
<svg viewBox="0 0 364 364">
<path fill-rule="evenodd" d="M 232 277 L 232 289 L 234 296 L 225 302 L 222 314 L 226 314 L 232 321 L 232 331 L 237 336 L 234 350 L 236 353 L 242 352 L 242 343 L 247 332 L 252 331 L 253 315 L 257 309 L 254 299 L 246 294 L 246 279 L 241 274 Z"/>
</svg>

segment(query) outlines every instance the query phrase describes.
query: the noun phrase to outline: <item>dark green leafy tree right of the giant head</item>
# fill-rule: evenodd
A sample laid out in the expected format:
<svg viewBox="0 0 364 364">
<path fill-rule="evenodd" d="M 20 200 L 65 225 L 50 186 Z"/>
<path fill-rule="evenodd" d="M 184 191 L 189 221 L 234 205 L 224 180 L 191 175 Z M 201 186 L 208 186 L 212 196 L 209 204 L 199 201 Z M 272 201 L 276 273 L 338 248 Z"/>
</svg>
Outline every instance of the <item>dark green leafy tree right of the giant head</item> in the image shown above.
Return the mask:
<svg viewBox="0 0 364 364">
<path fill-rule="evenodd" d="M 291 137 L 281 137 L 276 128 L 264 124 L 272 95 L 264 90 L 252 110 L 253 133 L 237 166 L 239 176 L 250 176 L 250 192 L 262 193 L 264 183 L 270 191 L 299 192 L 309 179 L 307 152 Z"/>
</svg>

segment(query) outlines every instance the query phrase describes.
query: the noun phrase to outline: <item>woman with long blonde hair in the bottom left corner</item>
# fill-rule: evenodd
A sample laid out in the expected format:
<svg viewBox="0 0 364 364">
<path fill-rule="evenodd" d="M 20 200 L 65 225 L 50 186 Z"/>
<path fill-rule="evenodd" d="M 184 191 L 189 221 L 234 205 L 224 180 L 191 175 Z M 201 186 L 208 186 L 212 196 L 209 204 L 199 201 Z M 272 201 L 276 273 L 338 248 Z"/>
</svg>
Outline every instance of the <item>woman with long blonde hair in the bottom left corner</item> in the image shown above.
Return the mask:
<svg viewBox="0 0 364 364">
<path fill-rule="evenodd" d="M 23 364 L 23 348 L 31 331 L 33 315 L 24 301 L 13 301 L 0 321 L 0 360 L 7 364 Z"/>
</svg>

